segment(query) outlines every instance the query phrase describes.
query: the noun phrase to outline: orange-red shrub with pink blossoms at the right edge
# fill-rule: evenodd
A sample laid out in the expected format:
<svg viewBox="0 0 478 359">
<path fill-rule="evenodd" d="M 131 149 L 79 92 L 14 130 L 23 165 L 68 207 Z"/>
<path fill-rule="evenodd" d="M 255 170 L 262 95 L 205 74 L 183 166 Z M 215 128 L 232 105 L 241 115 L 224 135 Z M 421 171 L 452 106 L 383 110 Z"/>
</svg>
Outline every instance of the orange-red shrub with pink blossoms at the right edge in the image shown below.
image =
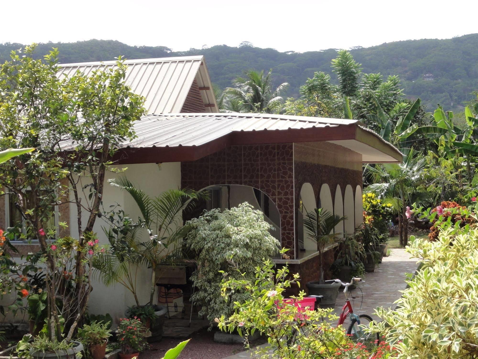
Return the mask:
<svg viewBox="0 0 478 359">
<path fill-rule="evenodd" d="M 467 232 L 470 227 L 475 227 L 477 223 L 476 215 L 473 211 L 474 206 L 462 206 L 456 202 L 444 201 L 431 209 L 423 210 L 423 207 L 414 210 L 420 213 L 421 217 L 428 218 L 432 226 L 428 238 L 431 241 L 438 239 L 438 235 L 444 229 L 451 228 L 450 235 Z"/>
</svg>

